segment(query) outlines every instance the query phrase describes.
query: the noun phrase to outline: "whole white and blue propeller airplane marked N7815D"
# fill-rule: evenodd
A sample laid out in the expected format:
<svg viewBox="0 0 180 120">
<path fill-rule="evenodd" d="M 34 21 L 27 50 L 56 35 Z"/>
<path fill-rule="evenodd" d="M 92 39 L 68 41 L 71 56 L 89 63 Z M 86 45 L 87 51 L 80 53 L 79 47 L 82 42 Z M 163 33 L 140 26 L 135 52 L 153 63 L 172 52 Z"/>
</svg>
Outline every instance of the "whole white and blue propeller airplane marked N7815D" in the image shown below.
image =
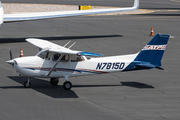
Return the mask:
<svg viewBox="0 0 180 120">
<path fill-rule="evenodd" d="M 14 66 L 16 72 L 27 76 L 24 87 L 31 86 L 33 77 L 51 78 L 52 85 L 58 84 L 58 78 L 65 78 L 63 87 L 70 90 L 70 76 L 123 72 L 139 69 L 162 69 L 161 59 L 170 35 L 157 34 L 140 52 L 130 55 L 110 57 L 93 57 L 101 54 L 70 50 L 66 45 L 60 46 L 41 39 L 26 39 L 27 42 L 41 49 L 35 56 L 20 57 L 6 61 Z"/>
</svg>

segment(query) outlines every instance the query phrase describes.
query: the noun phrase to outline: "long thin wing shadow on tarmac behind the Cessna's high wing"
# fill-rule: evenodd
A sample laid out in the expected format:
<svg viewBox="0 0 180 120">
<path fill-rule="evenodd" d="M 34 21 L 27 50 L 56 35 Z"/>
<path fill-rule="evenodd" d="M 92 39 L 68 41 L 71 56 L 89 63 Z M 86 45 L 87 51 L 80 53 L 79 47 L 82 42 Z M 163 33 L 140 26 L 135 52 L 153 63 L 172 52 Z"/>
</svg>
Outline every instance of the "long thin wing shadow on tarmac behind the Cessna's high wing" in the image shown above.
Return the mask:
<svg viewBox="0 0 180 120">
<path fill-rule="evenodd" d="M 92 39 L 92 38 L 108 38 L 108 37 L 123 37 L 122 35 L 94 35 L 94 36 L 57 36 L 57 37 L 22 37 L 22 38 L 0 38 L 0 43 L 26 42 L 27 38 L 39 38 L 45 40 L 75 40 L 75 39 Z"/>
</svg>

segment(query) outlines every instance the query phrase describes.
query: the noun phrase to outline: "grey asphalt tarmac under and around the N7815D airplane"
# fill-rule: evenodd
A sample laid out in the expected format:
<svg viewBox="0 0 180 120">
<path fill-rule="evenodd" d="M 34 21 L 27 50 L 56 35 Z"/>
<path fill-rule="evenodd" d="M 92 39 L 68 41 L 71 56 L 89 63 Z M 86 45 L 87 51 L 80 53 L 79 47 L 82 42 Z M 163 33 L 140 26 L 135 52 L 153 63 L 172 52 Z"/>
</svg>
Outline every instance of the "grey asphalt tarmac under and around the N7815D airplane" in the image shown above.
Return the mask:
<svg viewBox="0 0 180 120">
<path fill-rule="evenodd" d="M 160 1 L 161 2 L 161 1 Z M 160 3 L 159 2 L 159 3 Z M 155 3 L 154 3 L 155 4 Z M 170 8 L 176 5 L 169 4 Z M 177 2 L 177 4 L 179 4 Z M 142 6 L 143 7 L 143 6 Z M 180 12 L 153 9 L 144 15 L 82 16 L 6 23 L 0 29 L 0 119 L 1 120 L 177 120 L 180 118 Z M 9 48 L 13 57 L 35 55 L 38 48 L 24 42 L 35 37 L 64 45 L 76 42 L 74 50 L 124 55 L 140 51 L 154 32 L 171 34 L 162 59 L 165 70 L 151 69 L 72 77 L 70 91 L 49 79 L 34 78 L 25 89 L 26 77 L 6 64 Z"/>
</svg>

